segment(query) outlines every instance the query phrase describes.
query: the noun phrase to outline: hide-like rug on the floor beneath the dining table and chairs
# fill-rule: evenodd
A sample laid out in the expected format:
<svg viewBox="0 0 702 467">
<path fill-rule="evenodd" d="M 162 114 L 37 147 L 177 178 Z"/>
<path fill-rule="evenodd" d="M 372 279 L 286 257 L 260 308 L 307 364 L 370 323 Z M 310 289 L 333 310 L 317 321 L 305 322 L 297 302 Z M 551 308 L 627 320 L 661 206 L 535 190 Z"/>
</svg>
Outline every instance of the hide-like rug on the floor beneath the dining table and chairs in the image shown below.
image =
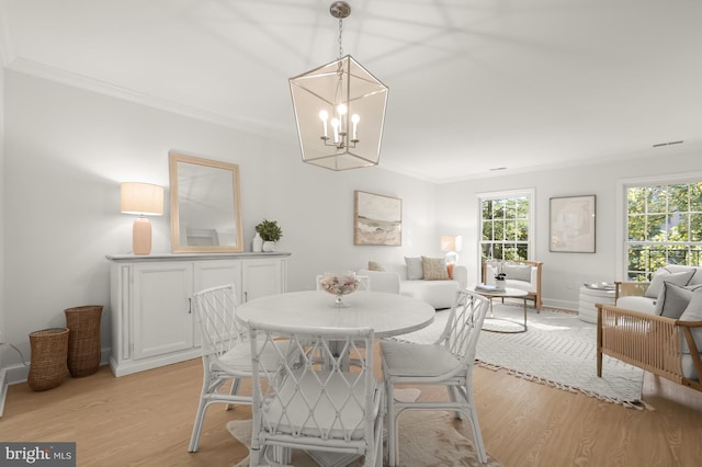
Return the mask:
<svg viewBox="0 0 702 467">
<path fill-rule="evenodd" d="M 251 445 L 251 420 L 233 420 L 227 430 L 234 437 Z M 399 465 L 400 466 L 489 466 L 502 467 L 502 464 L 488 453 L 488 463 L 480 464 L 475 455 L 473 434 L 467 421 L 456 421 L 446 412 L 427 412 L 410 410 L 399 418 Z M 235 464 L 235 467 L 249 465 L 249 458 Z M 317 467 L 317 464 L 303 452 L 293 453 L 295 467 Z M 350 467 L 363 465 L 363 459 L 350 464 Z"/>
</svg>

